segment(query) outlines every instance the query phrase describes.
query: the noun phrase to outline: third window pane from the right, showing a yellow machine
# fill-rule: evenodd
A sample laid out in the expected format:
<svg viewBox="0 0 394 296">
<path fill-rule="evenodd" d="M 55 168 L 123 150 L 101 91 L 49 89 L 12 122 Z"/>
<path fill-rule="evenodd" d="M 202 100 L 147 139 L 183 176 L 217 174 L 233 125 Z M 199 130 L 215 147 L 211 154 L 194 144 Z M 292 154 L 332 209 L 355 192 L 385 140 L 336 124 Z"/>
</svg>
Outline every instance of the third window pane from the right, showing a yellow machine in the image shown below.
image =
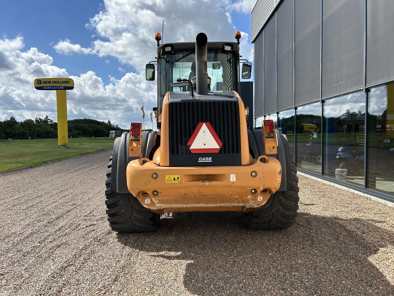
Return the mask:
<svg viewBox="0 0 394 296">
<path fill-rule="evenodd" d="M 322 173 L 322 104 L 298 107 L 296 111 L 297 167 Z"/>
</svg>

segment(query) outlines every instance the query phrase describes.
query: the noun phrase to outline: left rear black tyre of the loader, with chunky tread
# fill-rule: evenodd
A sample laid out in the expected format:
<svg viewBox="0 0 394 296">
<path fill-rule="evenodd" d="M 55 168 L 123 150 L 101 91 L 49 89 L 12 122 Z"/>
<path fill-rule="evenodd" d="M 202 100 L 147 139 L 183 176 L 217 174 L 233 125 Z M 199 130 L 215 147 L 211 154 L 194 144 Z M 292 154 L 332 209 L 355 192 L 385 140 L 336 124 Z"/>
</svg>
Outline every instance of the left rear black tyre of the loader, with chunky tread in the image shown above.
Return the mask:
<svg viewBox="0 0 394 296">
<path fill-rule="evenodd" d="M 144 208 L 130 193 L 117 193 L 111 190 L 112 156 L 108 163 L 105 181 L 105 204 L 110 227 L 118 232 L 145 232 L 156 230 L 160 215 Z"/>
</svg>

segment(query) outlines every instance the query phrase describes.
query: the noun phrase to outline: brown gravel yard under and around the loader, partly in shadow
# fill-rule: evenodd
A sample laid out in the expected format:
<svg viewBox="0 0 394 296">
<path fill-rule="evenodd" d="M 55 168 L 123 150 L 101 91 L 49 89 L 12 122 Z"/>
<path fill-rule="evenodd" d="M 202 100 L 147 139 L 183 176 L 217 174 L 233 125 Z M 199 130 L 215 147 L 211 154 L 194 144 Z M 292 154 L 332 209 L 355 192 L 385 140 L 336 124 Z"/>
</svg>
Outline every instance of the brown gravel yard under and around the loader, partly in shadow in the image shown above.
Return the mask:
<svg viewBox="0 0 394 296">
<path fill-rule="evenodd" d="M 290 229 L 202 212 L 117 234 L 110 154 L 0 175 L 0 295 L 394 295 L 394 208 L 299 176 Z"/>
</svg>

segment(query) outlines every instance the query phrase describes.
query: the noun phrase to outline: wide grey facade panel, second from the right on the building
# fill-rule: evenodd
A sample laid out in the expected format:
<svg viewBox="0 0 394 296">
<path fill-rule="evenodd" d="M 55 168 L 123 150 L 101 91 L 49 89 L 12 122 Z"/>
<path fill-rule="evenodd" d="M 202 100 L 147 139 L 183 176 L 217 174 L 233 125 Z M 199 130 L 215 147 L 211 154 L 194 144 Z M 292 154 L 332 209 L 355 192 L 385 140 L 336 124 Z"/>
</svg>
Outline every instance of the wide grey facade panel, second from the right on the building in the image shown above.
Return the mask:
<svg viewBox="0 0 394 296">
<path fill-rule="evenodd" d="M 322 97 L 362 88 L 364 0 L 323 0 Z"/>
</svg>

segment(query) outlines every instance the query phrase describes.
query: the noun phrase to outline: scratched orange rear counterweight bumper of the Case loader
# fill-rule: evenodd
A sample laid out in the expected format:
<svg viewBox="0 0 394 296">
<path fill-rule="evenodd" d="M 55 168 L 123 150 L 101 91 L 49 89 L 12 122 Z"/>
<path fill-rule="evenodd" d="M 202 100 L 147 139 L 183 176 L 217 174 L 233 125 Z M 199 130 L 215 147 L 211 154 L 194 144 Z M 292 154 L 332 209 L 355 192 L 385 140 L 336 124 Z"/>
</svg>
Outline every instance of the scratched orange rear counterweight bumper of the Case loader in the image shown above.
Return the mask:
<svg viewBox="0 0 394 296">
<path fill-rule="evenodd" d="M 130 193 L 158 214 L 253 211 L 279 189 L 281 174 L 279 161 L 266 156 L 250 165 L 211 167 L 161 167 L 143 158 L 126 169 Z"/>
</svg>

